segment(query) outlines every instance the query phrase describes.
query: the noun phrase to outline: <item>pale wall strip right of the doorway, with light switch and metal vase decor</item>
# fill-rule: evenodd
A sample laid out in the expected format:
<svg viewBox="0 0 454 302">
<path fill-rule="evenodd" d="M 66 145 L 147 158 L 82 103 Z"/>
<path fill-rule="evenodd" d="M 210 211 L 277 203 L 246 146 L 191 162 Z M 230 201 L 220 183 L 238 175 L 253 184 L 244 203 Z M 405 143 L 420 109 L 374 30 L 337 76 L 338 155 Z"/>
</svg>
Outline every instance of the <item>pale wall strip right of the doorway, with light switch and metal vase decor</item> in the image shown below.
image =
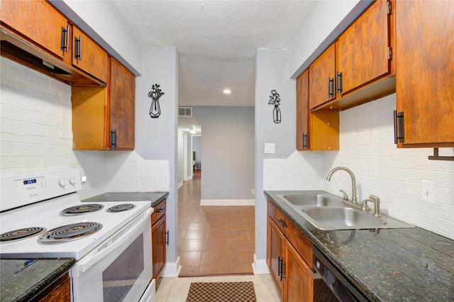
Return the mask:
<svg viewBox="0 0 454 302">
<path fill-rule="evenodd" d="M 259 49 L 255 60 L 255 262 L 254 272 L 265 273 L 267 266 L 267 204 L 263 194 L 266 159 L 287 158 L 295 150 L 296 85 L 289 79 L 289 50 Z M 282 122 L 274 123 L 269 105 L 271 91 L 281 96 Z M 265 142 L 275 143 L 275 154 L 265 154 Z M 205 155 L 204 155 L 205 156 Z M 280 167 L 271 173 L 280 173 Z M 272 175 L 272 174 L 269 174 Z M 277 176 L 278 177 L 278 176 Z M 282 183 L 281 183 L 282 184 Z"/>
</svg>

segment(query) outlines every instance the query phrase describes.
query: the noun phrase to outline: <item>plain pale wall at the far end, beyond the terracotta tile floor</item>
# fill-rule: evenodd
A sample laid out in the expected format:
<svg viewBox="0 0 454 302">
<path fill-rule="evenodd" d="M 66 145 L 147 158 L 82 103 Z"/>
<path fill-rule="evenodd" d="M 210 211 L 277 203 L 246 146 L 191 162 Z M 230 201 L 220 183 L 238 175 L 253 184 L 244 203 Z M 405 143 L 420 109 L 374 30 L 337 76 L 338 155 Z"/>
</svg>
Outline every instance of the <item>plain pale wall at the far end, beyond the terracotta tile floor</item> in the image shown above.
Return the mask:
<svg viewBox="0 0 454 302">
<path fill-rule="evenodd" d="M 203 129 L 201 203 L 252 203 L 254 108 L 194 107 L 192 116 Z"/>
</svg>

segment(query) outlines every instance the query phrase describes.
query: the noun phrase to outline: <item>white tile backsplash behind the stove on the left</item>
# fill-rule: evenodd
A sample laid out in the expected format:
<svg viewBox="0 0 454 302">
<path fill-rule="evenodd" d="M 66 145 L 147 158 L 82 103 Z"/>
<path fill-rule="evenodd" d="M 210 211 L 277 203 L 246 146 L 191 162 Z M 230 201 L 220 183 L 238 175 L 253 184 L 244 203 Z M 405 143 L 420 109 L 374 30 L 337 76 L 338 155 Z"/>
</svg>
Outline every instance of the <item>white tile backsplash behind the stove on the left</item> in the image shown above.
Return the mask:
<svg viewBox="0 0 454 302">
<path fill-rule="evenodd" d="M 135 152 L 72 150 L 71 86 L 1 57 L 0 174 L 69 169 L 87 176 L 79 192 L 168 191 L 169 162 Z"/>
</svg>

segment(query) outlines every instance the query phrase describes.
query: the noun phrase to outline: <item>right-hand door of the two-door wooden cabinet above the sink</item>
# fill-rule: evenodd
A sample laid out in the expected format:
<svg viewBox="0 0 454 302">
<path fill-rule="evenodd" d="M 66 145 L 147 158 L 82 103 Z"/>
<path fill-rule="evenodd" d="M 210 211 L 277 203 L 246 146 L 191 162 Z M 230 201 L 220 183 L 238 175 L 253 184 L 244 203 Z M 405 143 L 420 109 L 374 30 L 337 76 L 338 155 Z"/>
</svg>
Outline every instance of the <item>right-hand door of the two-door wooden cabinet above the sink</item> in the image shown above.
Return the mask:
<svg viewBox="0 0 454 302">
<path fill-rule="evenodd" d="M 389 28 L 386 0 L 375 1 L 339 37 L 338 85 L 342 94 L 366 84 L 384 74 L 390 68 L 388 60 Z M 340 88 L 340 87 L 339 87 Z"/>
</svg>

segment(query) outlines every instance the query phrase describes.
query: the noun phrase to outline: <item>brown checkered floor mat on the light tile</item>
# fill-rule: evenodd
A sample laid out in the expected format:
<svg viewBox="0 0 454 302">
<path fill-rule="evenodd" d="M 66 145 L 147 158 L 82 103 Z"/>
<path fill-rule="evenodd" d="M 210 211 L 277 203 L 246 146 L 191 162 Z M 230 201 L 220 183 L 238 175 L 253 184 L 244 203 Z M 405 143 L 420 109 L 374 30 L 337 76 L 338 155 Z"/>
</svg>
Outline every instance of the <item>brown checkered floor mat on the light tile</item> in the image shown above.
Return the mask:
<svg viewBox="0 0 454 302">
<path fill-rule="evenodd" d="M 253 282 L 193 282 L 186 302 L 256 302 Z"/>
</svg>

